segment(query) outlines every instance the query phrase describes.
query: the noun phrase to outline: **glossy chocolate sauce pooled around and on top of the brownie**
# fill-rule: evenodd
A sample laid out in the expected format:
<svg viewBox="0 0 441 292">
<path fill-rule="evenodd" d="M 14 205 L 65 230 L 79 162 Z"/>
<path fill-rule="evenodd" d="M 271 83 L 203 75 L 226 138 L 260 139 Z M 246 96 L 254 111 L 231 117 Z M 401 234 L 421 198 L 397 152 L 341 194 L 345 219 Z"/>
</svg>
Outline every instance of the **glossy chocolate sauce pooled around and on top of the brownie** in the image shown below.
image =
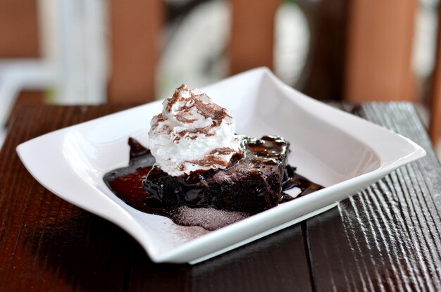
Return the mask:
<svg viewBox="0 0 441 292">
<path fill-rule="evenodd" d="M 201 184 L 199 184 L 199 182 L 209 179 L 209 177 L 212 177 L 218 171 L 225 170 L 192 172 L 192 174 L 187 177 L 173 177 L 180 192 L 185 193 L 185 196 L 182 196 L 175 188 L 167 190 L 163 188 L 163 185 L 159 185 L 161 179 L 167 179 L 170 176 L 159 169 L 159 167 L 154 166 L 156 160 L 149 149 L 145 148 L 132 138 L 129 138 L 128 144 L 130 145 L 130 160 L 128 167 L 112 170 L 111 172 L 106 173 L 103 178 L 108 188 L 111 189 L 116 196 L 137 210 L 169 217 L 177 224 L 191 226 L 197 225 L 208 230 L 220 228 L 218 224 L 216 227 L 211 228 L 206 224 L 198 224 L 195 220 L 183 220 L 182 217 L 180 217 L 180 214 L 183 213 L 181 208 L 182 205 L 205 210 L 206 208 L 213 207 L 221 209 L 216 202 L 211 201 L 209 196 L 204 195 L 204 188 L 200 186 Z M 259 140 L 249 139 L 247 141 L 247 149 L 249 151 L 246 153 L 247 155 L 252 155 L 259 159 L 264 159 L 266 161 L 271 160 L 274 163 L 277 163 L 275 158 L 279 158 L 280 153 L 287 150 L 284 147 L 287 147 L 287 144 L 282 143 L 282 140 L 278 139 L 278 137 L 262 137 L 262 139 Z M 232 160 L 232 165 L 230 165 L 230 167 L 240 159 L 240 155 L 236 155 Z M 285 163 L 285 161 L 283 161 L 283 163 Z M 309 181 L 309 179 L 297 174 L 295 170 L 296 168 L 291 167 L 290 165 L 285 167 L 282 180 L 282 191 L 298 187 L 302 191 L 299 196 L 304 196 L 307 193 L 323 188 L 323 186 L 314 184 Z M 282 193 L 279 203 L 291 201 L 292 199 L 292 196 L 287 193 Z M 206 213 L 202 211 L 203 210 L 200 212 L 201 214 Z M 229 210 L 229 214 L 231 214 L 232 211 L 235 210 Z M 198 211 L 194 210 L 193 213 L 195 212 L 197 213 Z M 246 217 L 246 214 L 252 215 L 253 212 L 240 212 L 240 214 L 240 217 L 232 216 L 232 218 L 243 218 L 244 216 Z M 189 221 L 192 223 L 185 223 Z M 235 220 L 225 220 L 225 225 L 233 222 L 235 222 Z"/>
</svg>

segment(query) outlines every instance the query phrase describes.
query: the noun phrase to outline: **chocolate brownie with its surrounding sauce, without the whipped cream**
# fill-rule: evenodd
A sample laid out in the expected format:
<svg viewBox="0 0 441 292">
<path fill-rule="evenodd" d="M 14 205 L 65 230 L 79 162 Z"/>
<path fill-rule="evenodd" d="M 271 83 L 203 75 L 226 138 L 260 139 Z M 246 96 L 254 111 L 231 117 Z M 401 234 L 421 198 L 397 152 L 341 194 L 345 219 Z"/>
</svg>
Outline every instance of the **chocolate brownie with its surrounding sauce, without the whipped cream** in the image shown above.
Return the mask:
<svg viewBox="0 0 441 292">
<path fill-rule="evenodd" d="M 304 196 L 322 188 L 285 165 L 289 144 L 284 139 L 244 142 L 243 156 L 235 157 L 226 170 L 170 177 L 154 167 L 156 160 L 148 148 L 129 138 L 129 165 L 106 173 L 103 179 L 116 196 L 137 210 L 207 230 L 292 200 L 284 193 L 288 189 L 298 187 L 299 196 Z"/>
</svg>

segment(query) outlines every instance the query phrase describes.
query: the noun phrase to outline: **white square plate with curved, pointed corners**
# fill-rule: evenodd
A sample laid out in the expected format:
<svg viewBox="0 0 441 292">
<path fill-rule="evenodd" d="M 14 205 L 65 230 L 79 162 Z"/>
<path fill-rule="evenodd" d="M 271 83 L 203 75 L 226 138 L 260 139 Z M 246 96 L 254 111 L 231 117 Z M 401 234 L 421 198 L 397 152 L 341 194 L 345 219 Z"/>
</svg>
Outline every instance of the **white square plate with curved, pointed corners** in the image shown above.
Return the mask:
<svg viewBox="0 0 441 292">
<path fill-rule="evenodd" d="M 18 146 L 18 154 L 39 183 L 128 231 L 154 262 L 190 263 L 328 210 L 426 155 L 409 139 L 304 96 L 266 68 L 202 90 L 229 110 L 237 133 L 285 137 L 291 142 L 290 164 L 326 188 L 210 232 L 131 208 L 107 188 L 102 177 L 128 164 L 128 137 L 148 146 L 149 121 L 161 111 L 161 101 L 45 134 Z"/>
</svg>

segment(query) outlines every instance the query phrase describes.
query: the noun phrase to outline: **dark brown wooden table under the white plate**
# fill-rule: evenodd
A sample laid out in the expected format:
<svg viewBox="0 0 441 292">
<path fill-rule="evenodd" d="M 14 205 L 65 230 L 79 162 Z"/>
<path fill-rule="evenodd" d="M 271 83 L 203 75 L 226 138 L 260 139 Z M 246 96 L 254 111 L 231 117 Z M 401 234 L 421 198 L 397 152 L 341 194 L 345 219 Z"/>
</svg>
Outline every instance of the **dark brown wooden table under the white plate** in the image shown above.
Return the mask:
<svg viewBox="0 0 441 292">
<path fill-rule="evenodd" d="M 15 153 L 27 139 L 125 107 L 16 110 L 0 152 L 0 291 L 441 291 L 441 167 L 410 103 L 344 109 L 413 139 L 426 158 L 193 266 L 150 262 L 125 231 L 44 189 Z"/>
</svg>

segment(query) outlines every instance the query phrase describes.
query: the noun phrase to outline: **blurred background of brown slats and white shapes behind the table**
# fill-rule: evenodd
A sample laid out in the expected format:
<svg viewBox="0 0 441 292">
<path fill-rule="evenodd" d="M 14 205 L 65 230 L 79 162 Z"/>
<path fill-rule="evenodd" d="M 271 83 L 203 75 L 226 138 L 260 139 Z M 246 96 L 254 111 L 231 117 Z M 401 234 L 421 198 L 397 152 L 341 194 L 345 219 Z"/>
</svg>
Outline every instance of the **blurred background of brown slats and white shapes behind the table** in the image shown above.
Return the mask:
<svg viewBox="0 0 441 292">
<path fill-rule="evenodd" d="M 323 101 L 414 102 L 436 142 L 438 16 L 437 0 L 0 0 L 0 144 L 17 104 L 145 103 L 262 65 Z"/>
</svg>

